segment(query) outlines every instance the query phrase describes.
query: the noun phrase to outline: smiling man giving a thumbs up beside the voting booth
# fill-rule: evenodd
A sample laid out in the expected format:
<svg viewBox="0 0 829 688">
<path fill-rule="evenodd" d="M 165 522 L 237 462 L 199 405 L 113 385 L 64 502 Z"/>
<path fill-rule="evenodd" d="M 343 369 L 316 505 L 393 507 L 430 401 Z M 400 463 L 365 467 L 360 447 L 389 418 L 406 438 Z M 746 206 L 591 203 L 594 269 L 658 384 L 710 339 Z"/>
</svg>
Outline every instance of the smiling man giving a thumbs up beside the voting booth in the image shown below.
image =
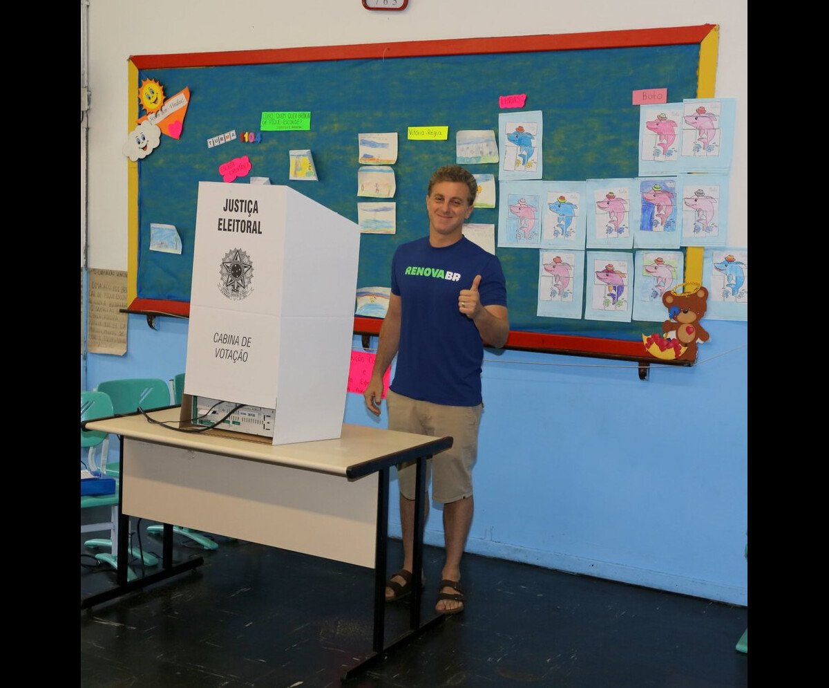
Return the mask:
<svg viewBox="0 0 829 688">
<path fill-rule="evenodd" d="M 435 607 L 444 614 L 463 610 L 460 564 L 473 517 L 483 346 L 502 347 L 510 328 L 501 262 L 462 233 L 476 193 L 475 178 L 458 165 L 429 179 L 429 236 L 395 251 L 389 309 L 365 392 L 366 407 L 379 416 L 383 374 L 396 355 L 389 429 L 454 438 L 451 449 L 427 462 L 425 481 L 428 490 L 434 472 L 432 498 L 444 505 L 446 559 Z M 404 561 L 387 583 L 387 601 L 411 592 L 415 471 L 414 462 L 398 466 Z M 424 523 L 428 513 L 427 495 Z"/>
</svg>

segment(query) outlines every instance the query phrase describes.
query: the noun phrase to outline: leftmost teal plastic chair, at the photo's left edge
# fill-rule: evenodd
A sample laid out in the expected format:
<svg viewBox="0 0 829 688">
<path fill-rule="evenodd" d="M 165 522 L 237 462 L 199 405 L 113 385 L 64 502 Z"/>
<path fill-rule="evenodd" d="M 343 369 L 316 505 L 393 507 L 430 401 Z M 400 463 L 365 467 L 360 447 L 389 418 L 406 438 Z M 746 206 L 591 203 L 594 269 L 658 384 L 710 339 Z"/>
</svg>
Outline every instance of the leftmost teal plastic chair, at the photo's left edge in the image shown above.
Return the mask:
<svg viewBox="0 0 829 688">
<path fill-rule="evenodd" d="M 91 421 L 95 418 L 113 416 L 112 400 L 103 392 L 81 392 L 80 393 L 80 420 Z M 109 452 L 109 432 L 83 430 L 80 431 L 80 446 L 85 450 L 81 453 L 84 456 L 85 467 L 90 471 L 100 471 L 102 475 L 106 472 L 107 453 Z M 107 507 L 109 509 L 109 520 L 99 523 L 87 523 L 80 526 L 81 533 L 96 533 L 102 530 L 109 530 L 109 539 L 91 539 L 84 544 L 87 547 L 104 547 L 109 551 L 95 554 L 95 559 L 109 564 L 112 568 L 118 568 L 118 480 L 115 481 L 115 492 L 112 495 L 81 495 L 80 508 L 94 509 L 95 507 Z M 127 579 L 134 580 L 135 572 L 127 569 Z"/>
</svg>

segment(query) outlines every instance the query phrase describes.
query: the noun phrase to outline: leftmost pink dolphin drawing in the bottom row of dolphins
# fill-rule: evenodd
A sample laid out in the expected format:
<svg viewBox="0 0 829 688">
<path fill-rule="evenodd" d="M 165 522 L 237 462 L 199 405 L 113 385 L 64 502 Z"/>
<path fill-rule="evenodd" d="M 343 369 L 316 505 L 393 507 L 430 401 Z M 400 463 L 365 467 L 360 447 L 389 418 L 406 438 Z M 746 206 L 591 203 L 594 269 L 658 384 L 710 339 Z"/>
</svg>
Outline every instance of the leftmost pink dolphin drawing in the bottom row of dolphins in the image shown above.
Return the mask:
<svg viewBox="0 0 829 688">
<path fill-rule="evenodd" d="M 539 251 L 536 315 L 581 318 L 584 251 Z"/>
</svg>

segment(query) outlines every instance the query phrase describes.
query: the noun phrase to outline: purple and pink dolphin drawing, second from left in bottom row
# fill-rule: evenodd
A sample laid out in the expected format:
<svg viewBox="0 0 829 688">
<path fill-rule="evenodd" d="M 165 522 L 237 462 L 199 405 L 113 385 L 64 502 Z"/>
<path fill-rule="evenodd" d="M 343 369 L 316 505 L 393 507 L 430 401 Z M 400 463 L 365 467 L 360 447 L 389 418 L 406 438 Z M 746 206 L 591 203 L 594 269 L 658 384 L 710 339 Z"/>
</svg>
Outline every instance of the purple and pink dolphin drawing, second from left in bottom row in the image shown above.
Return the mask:
<svg viewBox="0 0 829 688">
<path fill-rule="evenodd" d="M 584 318 L 630 322 L 634 282 L 630 253 L 587 251 L 589 297 Z"/>
</svg>

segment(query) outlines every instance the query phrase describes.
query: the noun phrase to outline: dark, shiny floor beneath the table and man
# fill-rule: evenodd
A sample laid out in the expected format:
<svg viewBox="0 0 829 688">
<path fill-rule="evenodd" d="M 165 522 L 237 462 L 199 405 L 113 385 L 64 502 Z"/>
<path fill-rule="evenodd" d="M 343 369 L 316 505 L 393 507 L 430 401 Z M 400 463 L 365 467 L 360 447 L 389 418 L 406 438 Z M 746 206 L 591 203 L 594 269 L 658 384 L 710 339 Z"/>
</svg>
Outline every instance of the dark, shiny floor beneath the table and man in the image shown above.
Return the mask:
<svg viewBox="0 0 829 688">
<path fill-rule="evenodd" d="M 89 537 L 81 536 L 82 599 L 115 584 L 113 572 L 87 568 Z M 343 673 L 371 656 L 370 569 L 215 539 L 219 549 L 206 551 L 176 535 L 174 559 L 203 556 L 201 567 L 80 612 L 81 686 L 323 688 L 341 686 Z M 161 554 L 157 536 L 143 532 L 141 541 Z M 397 564 L 400 542 L 390 548 Z M 424 620 L 441 556 L 426 547 Z M 749 685 L 748 655 L 735 649 L 745 607 L 472 554 L 463 583 L 463 613 L 345 685 Z M 387 606 L 387 644 L 405 632 L 408 615 L 405 603 Z"/>
</svg>

